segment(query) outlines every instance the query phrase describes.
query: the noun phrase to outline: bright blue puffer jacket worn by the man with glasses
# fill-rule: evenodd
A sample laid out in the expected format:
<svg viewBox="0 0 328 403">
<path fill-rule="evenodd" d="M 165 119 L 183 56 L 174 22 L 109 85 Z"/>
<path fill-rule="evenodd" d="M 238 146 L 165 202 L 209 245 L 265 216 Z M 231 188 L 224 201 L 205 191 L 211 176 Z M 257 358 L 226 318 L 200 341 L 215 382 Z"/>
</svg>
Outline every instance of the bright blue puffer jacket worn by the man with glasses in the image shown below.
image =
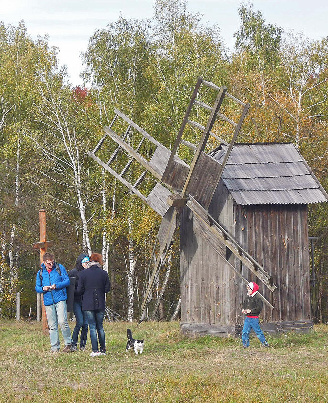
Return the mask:
<svg viewBox="0 0 328 403">
<path fill-rule="evenodd" d="M 52 266 L 51 272 L 48 273 L 45 265 L 42 263 L 42 284 L 40 280 L 40 270 L 38 270 L 38 273 L 36 274 L 35 291 L 37 293 L 43 294 L 44 305 L 53 305 L 59 301 L 67 300 L 66 287 L 69 286 L 70 279 L 65 267 L 62 264 L 59 264 L 59 267 L 61 270 L 61 276 L 59 276 L 55 264 Z M 54 290 L 43 291 L 42 287 L 51 286 L 52 284 L 56 285 L 56 288 Z"/>
</svg>

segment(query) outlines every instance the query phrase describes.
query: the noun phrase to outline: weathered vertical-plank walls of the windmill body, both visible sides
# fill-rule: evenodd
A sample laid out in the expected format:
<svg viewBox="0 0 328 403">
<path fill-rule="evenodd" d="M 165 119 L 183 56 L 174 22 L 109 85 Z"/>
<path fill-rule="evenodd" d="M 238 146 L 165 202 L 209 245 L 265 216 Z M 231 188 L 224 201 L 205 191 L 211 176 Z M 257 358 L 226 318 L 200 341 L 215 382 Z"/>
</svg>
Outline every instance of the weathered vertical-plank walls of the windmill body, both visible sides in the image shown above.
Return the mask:
<svg viewBox="0 0 328 403">
<path fill-rule="evenodd" d="M 220 184 L 209 212 L 273 276 L 277 290 L 271 293 L 238 258 L 228 259 L 245 278 L 259 283 L 274 306 L 272 311 L 264 304 L 264 322 L 310 320 L 307 205 L 241 206 Z M 222 258 L 225 245 L 216 245 L 218 253 L 205 239 L 185 207 L 180 223 L 181 322 L 242 324 L 245 284 Z M 218 329 L 224 332 L 224 327 Z"/>
</svg>

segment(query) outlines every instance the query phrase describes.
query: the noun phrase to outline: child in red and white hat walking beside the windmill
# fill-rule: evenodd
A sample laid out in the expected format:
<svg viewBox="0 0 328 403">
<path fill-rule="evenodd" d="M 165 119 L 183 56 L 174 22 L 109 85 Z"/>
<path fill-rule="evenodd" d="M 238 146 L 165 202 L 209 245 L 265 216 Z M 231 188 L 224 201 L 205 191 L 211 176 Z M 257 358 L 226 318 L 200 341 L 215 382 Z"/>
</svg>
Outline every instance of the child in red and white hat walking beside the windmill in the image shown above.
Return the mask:
<svg viewBox="0 0 328 403">
<path fill-rule="evenodd" d="M 263 347 L 269 347 L 268 342 L 260 328 L 259 315 L 263 308 L 263 303 L 258 295 L 259 286 L 256 283 L 248 283 L 247 297 L 242 304 L 242 313 L 246 314 L 242 329 L 242 346 L 248 348 L 250 345 L 250 332 L 253 329 Z"/>
</svg>

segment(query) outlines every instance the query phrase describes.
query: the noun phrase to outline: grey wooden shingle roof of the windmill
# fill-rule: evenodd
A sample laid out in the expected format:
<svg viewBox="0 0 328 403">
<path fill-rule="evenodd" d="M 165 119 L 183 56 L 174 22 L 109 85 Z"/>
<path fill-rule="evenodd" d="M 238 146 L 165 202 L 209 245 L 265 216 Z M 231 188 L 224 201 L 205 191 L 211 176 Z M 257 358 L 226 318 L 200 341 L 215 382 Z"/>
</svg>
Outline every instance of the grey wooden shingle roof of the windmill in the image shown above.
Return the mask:
<svg viewBox="0 0 328 403">
<path fill-rule="evenodd" d="M 209 155 L 222 163 L 228 146 Z M 238 204 L 308 204 L 328 201 L 292 143 L 235 144 L 222 180 Z"/>
</svg>

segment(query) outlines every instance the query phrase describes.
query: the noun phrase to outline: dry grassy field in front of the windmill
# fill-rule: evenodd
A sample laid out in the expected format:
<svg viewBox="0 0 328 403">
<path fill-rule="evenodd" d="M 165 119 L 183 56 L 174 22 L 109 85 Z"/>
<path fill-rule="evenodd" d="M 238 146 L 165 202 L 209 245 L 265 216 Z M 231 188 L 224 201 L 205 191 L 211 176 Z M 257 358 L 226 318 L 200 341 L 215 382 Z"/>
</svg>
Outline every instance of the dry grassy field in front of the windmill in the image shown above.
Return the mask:
<svg viewBox="0 0 328 403">
<path fill-rule="evenodd" d="M 73 324 L 72 324 L 73 327 Z M 126 329 L 145 338 L 144 354 L 125 352 Z M 50 354 L 39 323 L 0 322 L 0 401 L 325 402 L 328 326 L 307 335 L 187 338 L 179 323 L 105 323 L 107 355 Z M 63 347 L 63 346 L 62 346 Z"/>
</svg>

